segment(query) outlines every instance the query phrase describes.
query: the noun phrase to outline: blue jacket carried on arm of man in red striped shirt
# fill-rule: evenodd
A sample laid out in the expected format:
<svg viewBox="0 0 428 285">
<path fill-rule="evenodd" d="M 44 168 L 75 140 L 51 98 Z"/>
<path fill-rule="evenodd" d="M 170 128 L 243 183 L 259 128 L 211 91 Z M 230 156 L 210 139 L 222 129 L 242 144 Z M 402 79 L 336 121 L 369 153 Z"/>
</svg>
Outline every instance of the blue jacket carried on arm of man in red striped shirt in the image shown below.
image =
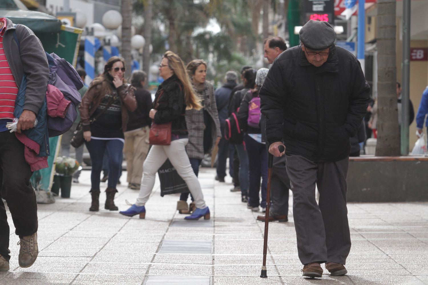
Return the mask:
<svg viewBox="0 0 428 285">
<path fill-rule="evenodd" d="M 15 118 L 19 118 L 22 112 L 24 111 L 26 89 L 27 89 L 27 76 L 24 74 L 21 85 L 19 86 L 18 95 L 15 100 L 15 111 L 13 112 L 13 115 Z M 47 109 L 48 107 L 46 104 L 46 96 L 45 96 L 42 107 L 39 109 L 39 112 L 36 115 L 37 125 L 32 129 L 27 129 L 23 131 L 24 135 L 27 138 L 29 138 L 31 141 L 36 142 L 39 145 L 40 150 L 37 155 L 39 157 L 50 155 L 48 124 L 47 124 Z M 34 147 L 31 147 L 29 145 L 32 143 L 31 141 L 25 141 L 23 143 L 27 145 L 27 147 L 34 149 Z"/>
</svg>

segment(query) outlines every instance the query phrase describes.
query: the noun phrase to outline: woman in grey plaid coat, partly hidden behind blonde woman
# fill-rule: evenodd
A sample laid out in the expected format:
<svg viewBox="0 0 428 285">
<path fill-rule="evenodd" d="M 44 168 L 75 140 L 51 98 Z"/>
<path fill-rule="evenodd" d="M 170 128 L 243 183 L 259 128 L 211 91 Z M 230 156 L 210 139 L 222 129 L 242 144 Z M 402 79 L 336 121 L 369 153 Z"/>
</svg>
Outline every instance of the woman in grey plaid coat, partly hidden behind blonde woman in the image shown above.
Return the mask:
<svg viewBox="0 0 428 285">
<path fill-rule="evenodd" d="M 187 64 L 186 69 L 190 79 L 192 79 L 193 90 L 199 96 L 202 105 L 200 110 L 186 110 L 186 124 L 189 132 L 189 143 L 186 145 L 186 151 L 193 171 L 198 176 L 199 165 L 204 154 L 211 153 L 214 145 L 217 146 L 220 141 L 220 121 L 218 120 L 214 88 L 205 81 L 207 63 L 202 59 L 194 59 Z M 188 192 L 182 193 L 177 202 L 177 210 L 180 214 L 189 214 L 195 208 L 194 203 L 187 206 L 188 197 Z"/>
</svg>

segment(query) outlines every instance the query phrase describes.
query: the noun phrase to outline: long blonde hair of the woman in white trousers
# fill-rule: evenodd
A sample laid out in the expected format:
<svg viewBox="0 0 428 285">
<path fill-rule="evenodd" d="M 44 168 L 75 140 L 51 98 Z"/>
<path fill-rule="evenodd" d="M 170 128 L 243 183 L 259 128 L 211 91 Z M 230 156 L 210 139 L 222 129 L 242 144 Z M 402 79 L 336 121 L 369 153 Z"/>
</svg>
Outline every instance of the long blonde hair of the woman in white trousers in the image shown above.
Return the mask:
<svg viewBox="0 0 428 285">
<path fill-rule="evenodd" d="M 176 55 L 170 50 L 164 53 L 163 57 L 168 59 L 168 67 L 178 77 L 178 80 L 181 81 L 181 84 L 183 84 L 184 100 L 187 106 L 186 109 L 202 109 L 199 97 L 195 96 L 195 93 L 193 92 L 192 84 L 190 83 L 186 68 L 184 67 L 184 62 L 178 55 Z"/>
</svg>

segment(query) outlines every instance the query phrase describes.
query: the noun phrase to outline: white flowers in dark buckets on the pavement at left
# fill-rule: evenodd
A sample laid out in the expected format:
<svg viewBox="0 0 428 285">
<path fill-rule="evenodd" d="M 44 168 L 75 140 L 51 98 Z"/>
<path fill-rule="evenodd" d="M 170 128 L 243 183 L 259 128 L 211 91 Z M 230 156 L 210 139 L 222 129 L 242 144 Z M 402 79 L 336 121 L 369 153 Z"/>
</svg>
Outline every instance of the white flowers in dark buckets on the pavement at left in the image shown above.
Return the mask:
<svg viewBox="0 0 428 285">
<path fill-rule="evenodd" d="M 81 168 L 81 166 L 76 159 L 68 156 L 57 157 L 51 192 L 59 195 L 59 188 L 61 188 L 61 197 L 70 198 L 73 174 L 79 170 L 79 168 Z"/>
</svg>

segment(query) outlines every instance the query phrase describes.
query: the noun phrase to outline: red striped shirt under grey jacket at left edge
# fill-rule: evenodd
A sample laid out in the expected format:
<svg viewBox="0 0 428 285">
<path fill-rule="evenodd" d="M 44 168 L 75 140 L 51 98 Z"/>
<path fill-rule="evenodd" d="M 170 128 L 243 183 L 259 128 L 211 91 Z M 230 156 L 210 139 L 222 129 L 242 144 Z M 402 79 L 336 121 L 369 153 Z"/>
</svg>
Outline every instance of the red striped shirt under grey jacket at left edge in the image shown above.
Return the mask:
<svg viewBox="0 0 428 285">
<path fill-rule="evenodd" d="M 3 29 L 0 31 L 0 119 L 13 119 L 18 85 L 6 59 L 3 48 L 3 34 L 6 30 L 6 19 L 0 18 Z"/>
</svg>

